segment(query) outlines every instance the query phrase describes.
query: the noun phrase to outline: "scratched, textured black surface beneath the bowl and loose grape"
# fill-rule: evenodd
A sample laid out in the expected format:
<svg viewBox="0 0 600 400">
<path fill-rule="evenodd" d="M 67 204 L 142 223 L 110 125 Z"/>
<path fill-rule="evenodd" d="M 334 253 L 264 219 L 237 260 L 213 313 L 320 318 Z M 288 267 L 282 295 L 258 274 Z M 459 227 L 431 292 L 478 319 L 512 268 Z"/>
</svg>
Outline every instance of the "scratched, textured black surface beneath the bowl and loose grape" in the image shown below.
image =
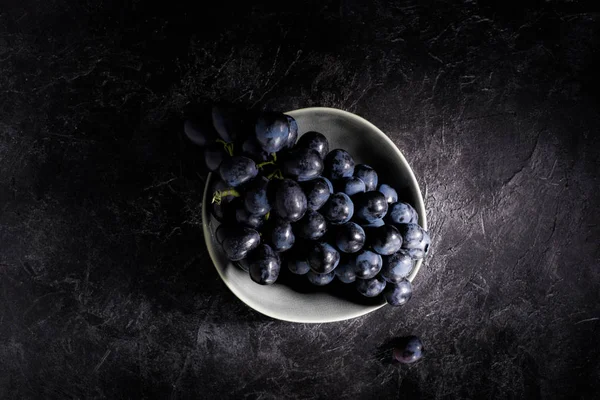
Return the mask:
<svg viewBox="0 0 600 400">
<path fill-rule="evenodd" d="M 117 3 L 0 8 L 0 398 L 598 398 L 598 13 Z M 406 307 L 302 325 L 234 297 L 180 135 L 215 100 L 392 138 L 433 237 Z M 408 334 L 427 357 L 390 363 Z"/>
</svg>

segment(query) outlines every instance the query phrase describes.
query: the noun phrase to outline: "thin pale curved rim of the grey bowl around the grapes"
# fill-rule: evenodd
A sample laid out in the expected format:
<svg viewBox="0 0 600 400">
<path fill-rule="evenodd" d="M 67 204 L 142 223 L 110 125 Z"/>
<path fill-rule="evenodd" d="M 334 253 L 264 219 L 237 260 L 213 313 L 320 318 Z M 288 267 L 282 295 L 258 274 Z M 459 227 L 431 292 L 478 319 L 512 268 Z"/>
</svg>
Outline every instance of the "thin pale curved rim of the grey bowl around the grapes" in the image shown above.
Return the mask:
<svg viewBox="0 0 600 400">
<path fill-rule="evenodd" d="M 417 181 L 410 164 L 408 163 L 408 161 L 406 161 L 406 158 L 404 157 L 404 155 L 402 154 L 400 149 L 398 149 L 398 147 L 394 144 L 394 142 L 385 133 L 383 133 L 383 131 L 381 131 L 381 129 L 379 129 L 378 127 L 376 127 L 371 122 L 364 119 L 363 117 L 353 114 L 348 111 L 337 109 L 337 108 L 306 107 L 306 108 L 299 108 L 296 110 L 286 111 L 286 112 L 284 112 L 284 114 L 290 115 L 295 118 L 295 115 L 297 116 L 300 114 L 313 113 L 313 112 L 325 112 L 325 113 L 330 113 L 330 114 L 337 114 L 338 116 L 341 116 L 343 118 L 354 119 L 355 121 L 359 122 L 360 124 L 363 124 L 363 125 L 366 125 L 367 127 L 369 127 L 374 133 L 379 135 L 384 141 L 386 141 L 388 143 L 388 145 L 390 145 L 391 149 L 396 153 L 396 155 L 400 158 L 401 162 L 404 163 L 404 166 L 408 170 L 408 175 L 411 180 L 410 186 L 414 186 L 414 188 L 417 191 L 417 204 L 415 204 L 415 209 L 417 211 L 417 214 L 419 215 L 420 225 L 421 225 L 421 227 L 423 227 L 423 229 L 427 230 L 427 215 L 425 212 L 425 204 L 423 201 L 423 195 L 421 193 L 421 188 L 419 187 L 419 182 Z M 295 316 L 287 317 L 285 315 L 279 315 L 276 312 L 274 313 L 269 309 L 265 309 L 265 308 L 261 307 L 260 303 L 256 303 L 256 302 L 248 299 L 242 291 L 238 290 L 235 286 L 230 284 L 230 282 L 226 278 L 224 272 L 221 271 L 222 268 L 219 268 L 216 265 L 217 263 L 215 262 L 215 260 L 217 259 L 216 246 L 214 246 L 214 244 L 210 240 L 210 238 L 212 237 L 212 232 L 209 228 L 209 226 L 211 225 L 212 216 L 210 215 L 210 213 L 208 211 L 208 207 L 206 206 L 206 202 L 208 201 L 208 188 L 209 188 L 209 183 L 211 182 L 211 179 L 212 179 L 212 175 L 213 175 L 212 173 L 208 174 L 207 179 L 206 179 L 206 184 L 204 185 L 204 193 L 202 194 L 202 230 L 203 230 L 203 234 L 204 234 L 204 243 L 206 244 L 211 261 L 212 261 L 215 269 L 217 270 L 217 273 L 221 277 L 221 280 L 225 283 L 225 285 L 229 288 L 229 290 L 231 290 L 231 292 L 233 292 L 233 294 L 239 300 L 241 300 L 244 304 L 246 304 L 248 307 L 254 309 L 255 311 L 258 311 L 259 313 L 261 313 L 263 315 L 271 317 L 273 319 L 278 319 L 278 320 L 287 321 L 287 322 L 329 323 L 329 322 L 339 322 L 339 321 L 354 319 L 354 318 L 366 315 L 370 312 L 376 311 L 376 310 L 380 309 L 381 307 L 387 305 L 386 303 L 383 303 L 383 304 L 379 304 L 379 305 L 375 305 L 375 306 L 365 306 L 364 309 L 359 312 L 343 315 L 343 316 L 340 316 L 339 318 L 327 318 L 327 319 L 321 318 L 320 319 L 320 318 L 318 318 L 318 316 L 313 317 L 313 318 L 306 318 L 306 317 L 300 318 L 300 317 L 295 317 Z M 419 273 L 419 270 L 421 269 L 422 264 L 423 264 L 423 260 L 418 260 L 415 263 L 415 266 L 413 267 L 413 270 L 411 271 L 410 275 L 407 277 L 407 280 L 412 282 L 415 279 L 415 277 Z"/>
</svg>

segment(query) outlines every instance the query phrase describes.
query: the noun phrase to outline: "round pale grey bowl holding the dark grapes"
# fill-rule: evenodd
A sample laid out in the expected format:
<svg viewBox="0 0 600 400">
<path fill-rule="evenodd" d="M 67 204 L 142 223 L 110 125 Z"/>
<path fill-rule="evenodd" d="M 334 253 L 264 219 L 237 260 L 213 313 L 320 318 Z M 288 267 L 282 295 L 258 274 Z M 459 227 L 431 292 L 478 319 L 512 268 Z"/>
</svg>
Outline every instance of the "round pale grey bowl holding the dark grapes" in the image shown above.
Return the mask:
<svg viewBox="0 0 600 400">
<path fill-rule="evenodd" d="M 334 108 L 303 108 L 289 111 L 298 123 L 298 133 L 321 132 L 329 140 L 329 149 L 343 148 L 356 163 L 369 164 L 379 174 L 380 183 L 388 183 L 398 191 L 401 201 L 410 203 L 419 214 L 419 224 L 427 229 L 425 206 L 419 184 L 410 165 L 394 143 L 375 125 L 358 115 Z M 253 282 L 239 267 L 233 265 L 222 252 L 215 237 L 219 222 L 210 213 L 212 195 L 208 193 L 214 174 L 208 176 L 204 189 L 202 218 L 204 239 L 212 261 L 229 289 L 254 310 L 271 318 L 298 323 L 325 323 L 343 321 L 373 312 L 386 305 L 379 296 L 365 298 L 349 285 L 334 280 L 323 287 L 306 282 L 304 276 L 284 274 L 270 286 Z M 422 260 L 415 263 L 408 280 L 415 279 Z M 286 271 L 287 272 L 287 271 Z M 285 275 L 285 276 L 284 276 Z M 291 273 L 289 275 L 292 275 Z"/>
</svg>

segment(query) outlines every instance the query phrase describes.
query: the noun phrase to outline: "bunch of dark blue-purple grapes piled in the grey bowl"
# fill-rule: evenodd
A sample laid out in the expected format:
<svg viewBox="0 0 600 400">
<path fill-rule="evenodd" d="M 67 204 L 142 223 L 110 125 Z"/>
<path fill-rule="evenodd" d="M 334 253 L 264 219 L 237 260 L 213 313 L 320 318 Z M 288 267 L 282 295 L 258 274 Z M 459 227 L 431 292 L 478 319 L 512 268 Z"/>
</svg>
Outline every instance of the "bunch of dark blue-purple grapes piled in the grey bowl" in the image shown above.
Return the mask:
<svg viewBox="0 0 600 400">
<path fill-rule="evenodd" d="M 294 118 L 213 107 L 212 123 L 187 120 L 214 180 L 211 212 L 227 258 L 261 285 L 285 265 L 314 285 L 338 279 L 391 305 L 412 295 L 415 260 L 430 246 L 418 215 L 377 171 L 356 164 L 326 137 L 298 139 Z"/>
</svg>

